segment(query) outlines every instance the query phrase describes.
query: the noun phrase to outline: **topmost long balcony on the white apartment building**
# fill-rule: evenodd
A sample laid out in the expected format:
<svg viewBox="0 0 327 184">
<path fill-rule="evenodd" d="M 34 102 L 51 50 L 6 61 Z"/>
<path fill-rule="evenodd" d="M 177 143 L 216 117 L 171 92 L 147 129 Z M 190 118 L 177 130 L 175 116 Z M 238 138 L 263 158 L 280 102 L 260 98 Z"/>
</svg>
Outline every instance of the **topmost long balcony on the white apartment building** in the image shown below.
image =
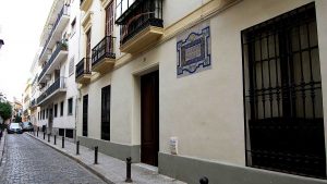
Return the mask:
<svg viewBox="0 0 327 184">
<path fill-rule="evenodd" d="M 39 56 L 39 60 L 44 61 L 46 59 L 46 50 L 48 48 L 53 48 L 57 40 L 61 39 L 61 33 L 64 29 L 64 26 L 70 21 L 70 7 L 63 5 L 61 11 L 59 12 L 56 22 L 52 25 L 50 34 L 46 40 L 44 49 Z"/>
</svg>

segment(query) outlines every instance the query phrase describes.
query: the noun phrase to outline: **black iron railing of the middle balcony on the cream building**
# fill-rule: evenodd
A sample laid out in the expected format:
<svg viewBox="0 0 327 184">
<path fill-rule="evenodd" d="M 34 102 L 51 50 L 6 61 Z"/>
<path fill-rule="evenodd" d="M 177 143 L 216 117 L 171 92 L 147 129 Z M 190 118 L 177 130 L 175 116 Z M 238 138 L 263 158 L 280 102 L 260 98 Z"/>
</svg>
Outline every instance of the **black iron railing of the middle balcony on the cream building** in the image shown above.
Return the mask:
<svg viewBox="0 0 327 184">
<path fill-rule="evenodd" d="M 106 36 L 92 49 L 92 66 L 104 58 L 116 59 L 116 53 L 113 52 L 114 39 L 116 37 Z"/>
</svg>

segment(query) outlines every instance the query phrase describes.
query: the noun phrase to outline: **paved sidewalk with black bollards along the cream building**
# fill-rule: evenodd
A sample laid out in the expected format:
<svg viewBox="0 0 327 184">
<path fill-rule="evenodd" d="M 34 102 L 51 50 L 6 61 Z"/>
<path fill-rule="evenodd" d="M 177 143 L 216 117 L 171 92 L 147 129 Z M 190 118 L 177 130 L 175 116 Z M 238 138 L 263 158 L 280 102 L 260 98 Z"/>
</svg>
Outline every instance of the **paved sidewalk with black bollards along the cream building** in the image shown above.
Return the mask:
<svg viewBox="0 0 327 184">
<path fill-rule="evenodd" d="M 81 163 L 83 167 L 92 171 L 94 174 L 101 177 L 107 183 L 125 183 L 126 163 L 122 160 L 109 157 L 101 152 L 98 154 L 98 164 L 94 164 L 94 150 L 80 146 L 80 155 L 76 156 L 76 145 L 71 142 L 64 142 L 64 148 L 62 148 L 62 138 L 57 137 L 57 145 L 53 144 L 53 136 L 50 137 L 48 143 L 48 136 L 44 139 L 43 133 L 39 132 L 38 137 L 27 133 L 27 135 L 47 144 L 63 155 L 72 158 Z M 185 184 L 181 181 L 158 174 L 158 172 L 132 164 L 132 180 L 137 184 Z"/>
</svg>

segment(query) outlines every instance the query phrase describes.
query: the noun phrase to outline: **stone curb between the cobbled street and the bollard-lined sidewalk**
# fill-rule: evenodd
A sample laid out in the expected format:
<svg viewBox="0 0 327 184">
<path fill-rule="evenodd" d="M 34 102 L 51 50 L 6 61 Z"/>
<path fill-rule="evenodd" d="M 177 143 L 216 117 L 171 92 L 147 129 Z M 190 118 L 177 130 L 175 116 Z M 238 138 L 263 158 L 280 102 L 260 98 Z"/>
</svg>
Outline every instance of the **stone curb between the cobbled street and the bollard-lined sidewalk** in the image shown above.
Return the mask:
<svg viewBox="0 0 327 184">
<path fill-rule="evenodd" d="M 43 143 L 43 144 L 49 146 L 50 148 L 57 150 L 58 152 L 60 152 L 60 154 L 62 154 L 62 155 L 69 157 L 70 159 L 74 160 L 75 162 L 77 162 L 78 164 L 81 164 L 82 167 L 84 167 L 85 169 L 87 169 L 89 172 L 92 172 L 93 174 L 95 174 L 95 175 L 97 175 L 98 177 L 100 177 L 104 182 L 106 182 L 106 183 L 108 183 L 108 184 L 114 184 L 114 183 L 111 182 L 109 179 L 107 179 L 104 174 L 99 173 L 98 171 L 96 171 L 95 169 L 93 169 L 90 165 L 84 163 L 84 162 L 83 162 L 82 160 L 80 160 L 78 158 L 76 158 L 76 157 L 74 157 L 74 156 L 72 156 L 72 155 L 70 155 L 70 154 L 68 154 L 68 152 L 64 151 L 64 150 L 58 149 L 57 147 L 55 147 L 55 146 L 51 145 L 51 144 L 48 144 L 48 143 L 43 142 L 41 139 L 35 137 L 35 136 L 32 135 L 32 134 L 26 133 L 26 135 L 28 135 L 28 136 L 31 136 L 31 137 L 37 139 L 38 142 L 40 142 L 40 143 Z"/>
</svg>

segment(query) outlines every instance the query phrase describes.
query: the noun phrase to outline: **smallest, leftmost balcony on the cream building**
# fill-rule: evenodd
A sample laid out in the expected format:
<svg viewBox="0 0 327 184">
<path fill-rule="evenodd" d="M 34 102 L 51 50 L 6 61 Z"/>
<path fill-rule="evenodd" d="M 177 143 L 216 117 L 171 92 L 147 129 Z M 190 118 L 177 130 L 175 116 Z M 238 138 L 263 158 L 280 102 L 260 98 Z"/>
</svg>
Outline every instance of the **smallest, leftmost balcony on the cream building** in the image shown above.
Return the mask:
<svg viewBox="0 0 327 184">
<path fill-rule="evenodd" d="M 76 64 L 76 72 L 75 72 L 75 82 L 81 84 L 88 84 L 90 82 L 90 58 L 83 58 Z"/>
</svg>

